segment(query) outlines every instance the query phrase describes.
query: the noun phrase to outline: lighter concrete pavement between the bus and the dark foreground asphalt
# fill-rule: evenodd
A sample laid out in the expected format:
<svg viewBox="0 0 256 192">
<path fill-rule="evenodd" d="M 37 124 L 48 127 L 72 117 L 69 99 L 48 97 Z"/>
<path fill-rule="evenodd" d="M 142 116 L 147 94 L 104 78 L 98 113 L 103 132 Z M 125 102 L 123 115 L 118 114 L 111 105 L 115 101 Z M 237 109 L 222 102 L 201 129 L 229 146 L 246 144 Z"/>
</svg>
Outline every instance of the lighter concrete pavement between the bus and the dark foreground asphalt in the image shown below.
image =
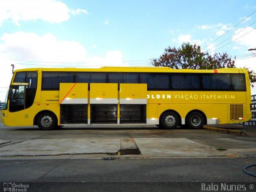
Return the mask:
<svg viewBox="0 0 256 192">
<path fill-rule="evenodd" d="M 189 130 L 162 130 L 156 126 L 64 126 L 42 131 L 36 126 L 5 127 L 0 122 L 0 159 L 25 158 L 159 158 L 159 157 L 256 157 L 256 129 L 222 126 L 247 135 Z M 121 139 L 134 139 L 140 155 L 118 156 Z M 219 149 L 219 150 L 217 150 Z M 63 158 L 63 156 L 62 156 Z"/>
</svg>

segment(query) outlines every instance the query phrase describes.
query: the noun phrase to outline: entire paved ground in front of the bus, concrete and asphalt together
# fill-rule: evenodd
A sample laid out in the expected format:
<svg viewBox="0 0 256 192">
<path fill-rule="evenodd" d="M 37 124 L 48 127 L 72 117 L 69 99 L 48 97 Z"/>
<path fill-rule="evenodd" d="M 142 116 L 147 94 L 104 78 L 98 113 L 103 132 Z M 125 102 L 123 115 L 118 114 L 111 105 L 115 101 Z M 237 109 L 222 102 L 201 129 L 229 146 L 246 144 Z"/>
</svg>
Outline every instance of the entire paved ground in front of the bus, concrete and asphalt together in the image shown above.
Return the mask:
<svg viewBox="0 0 256 192">
<path fill-rule="evenodd" d="M 146 125 L 41 131 L 0 122 L 0 191 L 4 182 L 28 184 L 28 192 L 197 192 L 202 184 L 255 191 L 255 177 L 243 168 L 256 162 L 256 128 L 222 127 L 247 135 Z M 126 139 L 133 139 L 141 154 L 118 155 L 120 140 Z"/>
</svg>

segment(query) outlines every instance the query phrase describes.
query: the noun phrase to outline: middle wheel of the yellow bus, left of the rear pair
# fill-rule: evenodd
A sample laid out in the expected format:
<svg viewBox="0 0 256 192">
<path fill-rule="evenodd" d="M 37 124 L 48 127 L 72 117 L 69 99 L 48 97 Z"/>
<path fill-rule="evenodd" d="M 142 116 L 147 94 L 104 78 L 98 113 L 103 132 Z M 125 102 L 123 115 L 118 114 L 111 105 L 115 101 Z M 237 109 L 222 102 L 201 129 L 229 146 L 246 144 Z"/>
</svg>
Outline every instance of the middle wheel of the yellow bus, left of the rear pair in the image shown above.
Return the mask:
<svg viewBox="0 0 256 192">
<path fill-rule="evenodd" d="M 179 124 L 178 115 L 175 112 L 165 112 L 160 119 L 161 127 L 164 129 L 175 129 Z"/>
</svg>

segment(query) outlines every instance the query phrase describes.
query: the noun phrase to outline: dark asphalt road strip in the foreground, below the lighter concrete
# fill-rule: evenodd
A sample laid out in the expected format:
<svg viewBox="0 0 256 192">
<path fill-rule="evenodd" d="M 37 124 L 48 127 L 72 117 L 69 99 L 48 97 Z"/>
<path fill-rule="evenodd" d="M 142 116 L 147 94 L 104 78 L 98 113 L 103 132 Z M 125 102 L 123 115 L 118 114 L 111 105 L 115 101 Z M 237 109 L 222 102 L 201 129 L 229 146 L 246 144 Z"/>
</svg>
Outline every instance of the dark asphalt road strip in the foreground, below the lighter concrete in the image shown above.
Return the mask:
<svg viewBox="0 0 256 192">
<path fill-rule="evenodd" d="M 27 191 L 72 191 L 77 186 L 74 191 L 201 191 L 202 184 L 215 183 L 245 184 L 246 191 L 253 191 L 248 187 L 256 186 L 255 177 L 243 168 L 255 162 L 256 158 L 0 160 L 0 181 L 29 184 Z"/>
</svg>

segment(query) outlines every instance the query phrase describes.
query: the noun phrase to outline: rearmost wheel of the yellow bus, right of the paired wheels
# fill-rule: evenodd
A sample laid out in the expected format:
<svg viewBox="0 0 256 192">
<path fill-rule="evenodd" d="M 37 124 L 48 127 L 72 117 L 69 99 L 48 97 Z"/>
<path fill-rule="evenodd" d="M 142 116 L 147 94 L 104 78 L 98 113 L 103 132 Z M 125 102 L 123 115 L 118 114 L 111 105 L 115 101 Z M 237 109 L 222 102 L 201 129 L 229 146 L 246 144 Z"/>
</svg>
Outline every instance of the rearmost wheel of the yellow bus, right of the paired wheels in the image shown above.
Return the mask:
<svg viewBox="0 0 256 192">
<path fill-rule="evenodd" d="M 204 117 L 199 112 L 192 112 L 186 118 L 186 125 L 190 129 L 201 129 L 204 126 Z"/>
</svg>

